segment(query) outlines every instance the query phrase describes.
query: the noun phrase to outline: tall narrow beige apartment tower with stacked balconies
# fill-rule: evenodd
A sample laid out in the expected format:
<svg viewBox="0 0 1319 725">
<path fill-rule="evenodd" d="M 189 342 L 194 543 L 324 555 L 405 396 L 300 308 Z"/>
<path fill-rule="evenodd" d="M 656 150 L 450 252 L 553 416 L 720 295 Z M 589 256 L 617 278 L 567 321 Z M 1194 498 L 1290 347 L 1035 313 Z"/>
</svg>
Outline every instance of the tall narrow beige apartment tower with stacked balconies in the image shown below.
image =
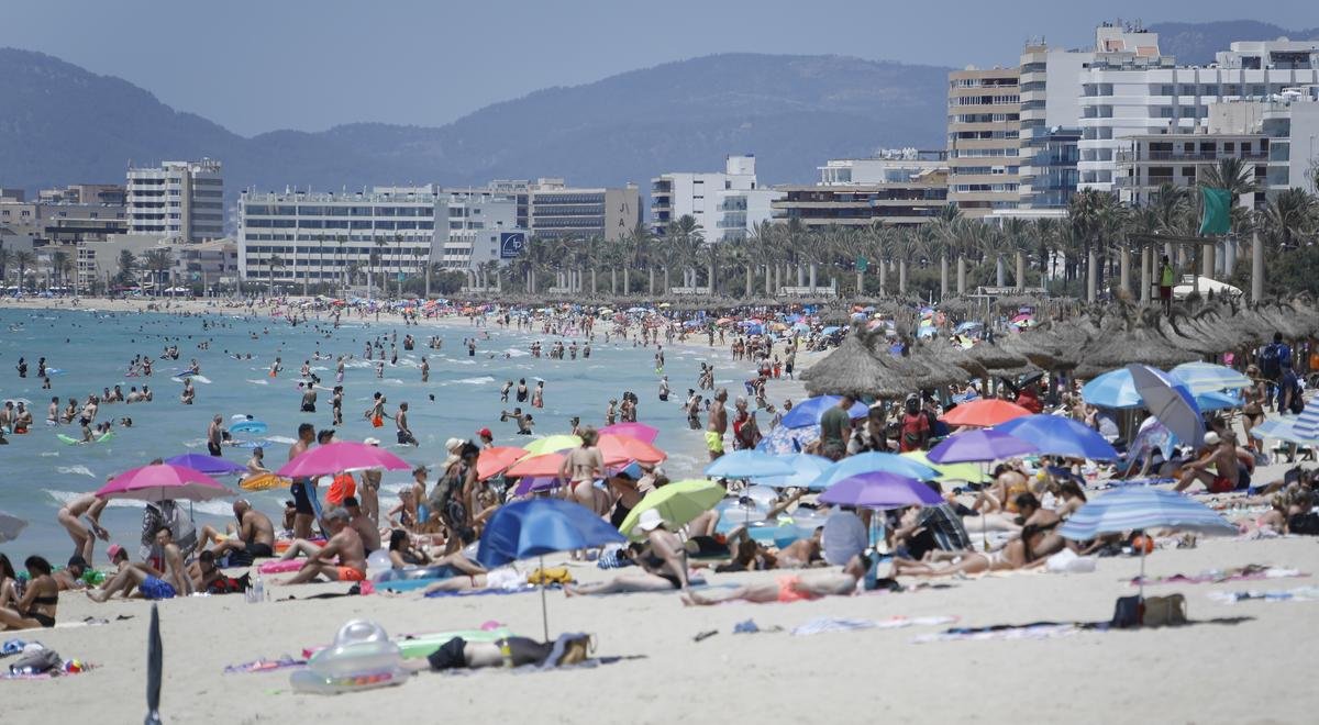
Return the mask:
<svg viewBox="0 0 1319 725">
<path fill-rule="evenodd" d="M 967 216 L 1021 200 L 1021 71 L 948 74 L 948 202 Z"/>
</svg>

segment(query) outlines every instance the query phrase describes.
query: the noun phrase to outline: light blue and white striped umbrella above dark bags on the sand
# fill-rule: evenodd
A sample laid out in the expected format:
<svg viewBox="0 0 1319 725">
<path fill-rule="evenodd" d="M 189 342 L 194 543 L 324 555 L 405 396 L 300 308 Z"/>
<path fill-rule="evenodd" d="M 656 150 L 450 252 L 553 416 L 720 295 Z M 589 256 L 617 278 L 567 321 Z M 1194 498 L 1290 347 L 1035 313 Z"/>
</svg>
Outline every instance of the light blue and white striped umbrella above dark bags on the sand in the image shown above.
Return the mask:
<svg viewBox="0 0 1319 725">
<path fill-rule="evenodd" d="M 1174 490 L 1126 486 L 1076 509 L 1058 535 L 1084 542 L 1104 534 L 1175 529 L 1199 534 L 1236 535 L 1237 527 L 1204 504 Z M 1141 550 L 1141 598 L 1145 597 L 1145 547 Z"/>
</svg>

